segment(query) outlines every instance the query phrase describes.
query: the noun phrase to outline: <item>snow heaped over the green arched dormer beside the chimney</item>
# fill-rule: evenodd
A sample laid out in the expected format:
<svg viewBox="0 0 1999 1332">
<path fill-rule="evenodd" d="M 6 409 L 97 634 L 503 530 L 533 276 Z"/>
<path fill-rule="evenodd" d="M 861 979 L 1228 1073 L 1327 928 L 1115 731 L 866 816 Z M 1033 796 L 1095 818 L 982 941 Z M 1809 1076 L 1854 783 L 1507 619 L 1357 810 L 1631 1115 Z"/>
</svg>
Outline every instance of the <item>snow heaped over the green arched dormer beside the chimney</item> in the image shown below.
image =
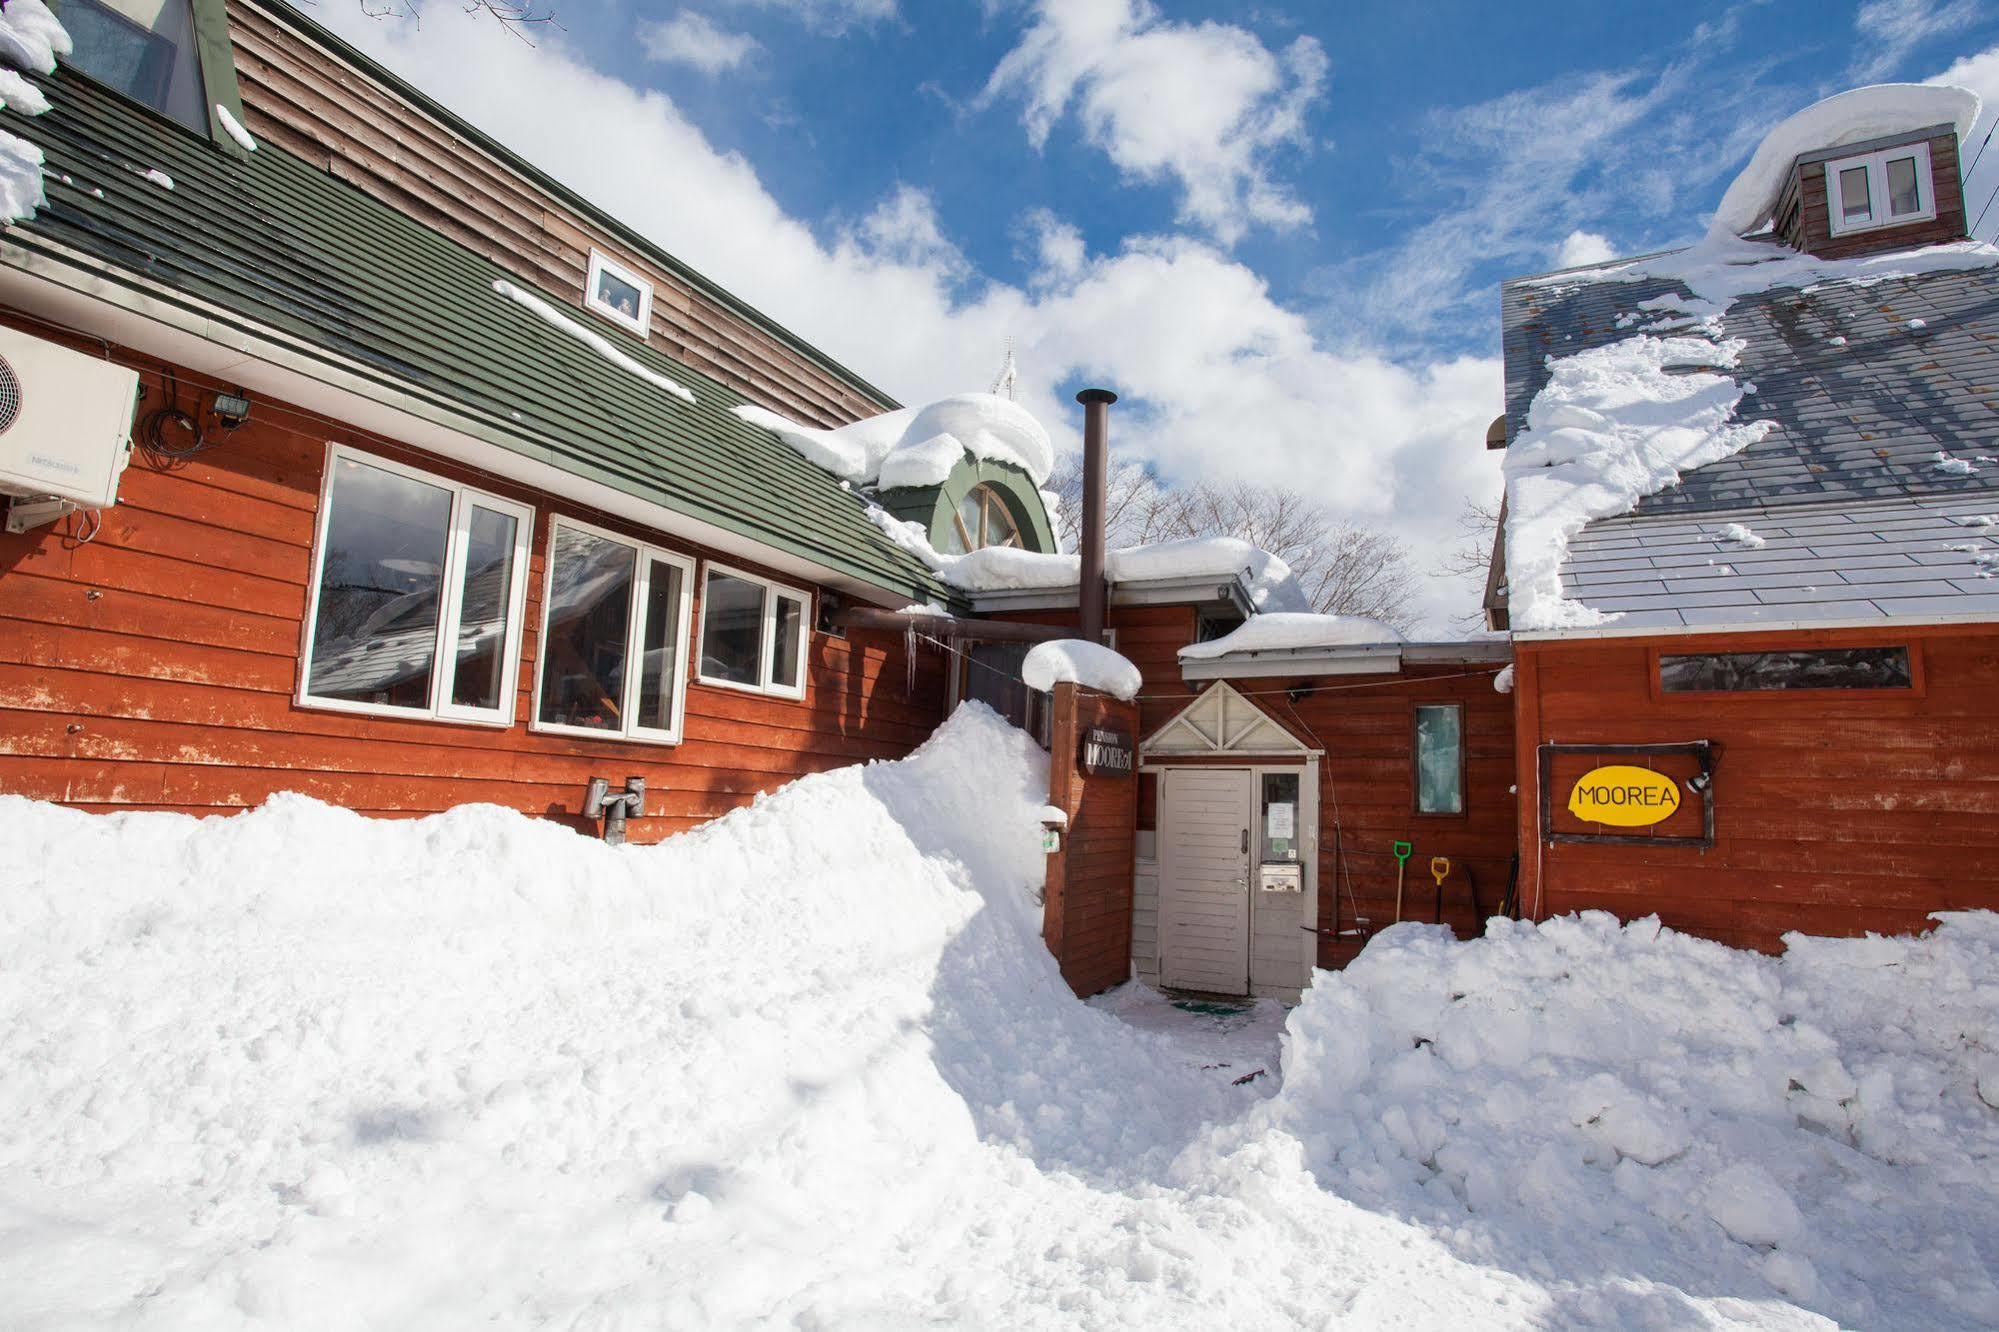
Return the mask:
<svg viewBox="0 0 1999 1332">
<path fill-rule="evenodd" d="M 956 394 L 834 430 L 800 426 L 754 404 L 732 410 L 856 486 L 942 486 L 968 454 L 1011 462 L 1035 486 L 1055 470 L 1055 446 L 1041 422 L 1027 408 L 996 394 Z"/>
</svg>

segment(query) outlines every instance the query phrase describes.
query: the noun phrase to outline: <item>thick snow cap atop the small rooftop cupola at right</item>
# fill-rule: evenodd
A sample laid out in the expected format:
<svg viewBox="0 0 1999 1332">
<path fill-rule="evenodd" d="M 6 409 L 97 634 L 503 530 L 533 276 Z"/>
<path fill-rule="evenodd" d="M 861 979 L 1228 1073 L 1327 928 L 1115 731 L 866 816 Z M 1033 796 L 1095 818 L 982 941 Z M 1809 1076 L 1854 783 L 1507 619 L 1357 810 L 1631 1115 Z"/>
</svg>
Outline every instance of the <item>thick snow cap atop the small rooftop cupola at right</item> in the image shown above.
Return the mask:
<svg viewBox="0 0 1999 1332">
<path fill-rule="evenodd" d="M 1963 140 L 1979 118 L 1979 94 L 1937 84 L 1873 84 L 1815 102 L 1779 122 L 1729 184 L 1709 234 L 1747 236 L 1771 220 L 1791 164 L 1801 152 L 1947 124 Z"/>
</svg>

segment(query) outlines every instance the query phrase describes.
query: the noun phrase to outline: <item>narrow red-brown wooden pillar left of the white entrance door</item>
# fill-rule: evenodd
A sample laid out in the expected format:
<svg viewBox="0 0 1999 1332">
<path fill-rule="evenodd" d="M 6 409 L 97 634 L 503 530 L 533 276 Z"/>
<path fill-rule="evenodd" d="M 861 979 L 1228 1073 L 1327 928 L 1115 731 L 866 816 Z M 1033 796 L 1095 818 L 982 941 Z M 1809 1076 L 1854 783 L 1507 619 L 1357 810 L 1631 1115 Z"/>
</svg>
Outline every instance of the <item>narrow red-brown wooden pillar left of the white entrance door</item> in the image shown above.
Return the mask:
<svg viewBox="0 0 1999 1332">
<path fill-rule="evenodd" d="M 1081 736 L 1107 726 L 1133 736 L 1137 710 L 1107 694 L 1057 684 L 1049 724 L 1047 802 L 1069 816 L 1047 858 L 1041 938 L 1081 996 L 1131 978 L 1131 882 L 1137 776 L 1085 774 Z"/>
</svg>

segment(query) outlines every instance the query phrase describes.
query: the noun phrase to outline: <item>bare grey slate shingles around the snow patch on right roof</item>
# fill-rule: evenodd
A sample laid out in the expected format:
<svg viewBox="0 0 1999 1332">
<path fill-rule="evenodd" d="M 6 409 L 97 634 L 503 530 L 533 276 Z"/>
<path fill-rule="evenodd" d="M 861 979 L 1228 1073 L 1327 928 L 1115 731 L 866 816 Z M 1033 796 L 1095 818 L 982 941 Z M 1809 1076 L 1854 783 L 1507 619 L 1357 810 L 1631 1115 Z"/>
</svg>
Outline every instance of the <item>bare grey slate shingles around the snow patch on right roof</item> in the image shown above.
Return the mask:
<svg viewBox="0 0 1999 1332">
<path fill-rule="evenodd" d="M 1691 292 L 1659 278 L 1509 282 L 1509 438 L 1549 356 L 1653 328 L 1657 308 L 1639 306 L 1661 298 Z M 1753 386 L 1737 418 L 1773 428 L 1631 514 L 1591 522 L 1569 544 L 1563 590 L 1619 612 L 1621 628 L 1999 618 L 1999 578 L 1951 550 L 1999 548 L 1959 522 L 1999 512 L 1999 268 L 1777 288 L 1739 300 L 1723 334 L 1745 344 L 1729 374 Z M 1939 452 L 1973 470 L 1939 470 Z M 1727 522 L 1769 544 L 1717 542 Z"/>
</svg>

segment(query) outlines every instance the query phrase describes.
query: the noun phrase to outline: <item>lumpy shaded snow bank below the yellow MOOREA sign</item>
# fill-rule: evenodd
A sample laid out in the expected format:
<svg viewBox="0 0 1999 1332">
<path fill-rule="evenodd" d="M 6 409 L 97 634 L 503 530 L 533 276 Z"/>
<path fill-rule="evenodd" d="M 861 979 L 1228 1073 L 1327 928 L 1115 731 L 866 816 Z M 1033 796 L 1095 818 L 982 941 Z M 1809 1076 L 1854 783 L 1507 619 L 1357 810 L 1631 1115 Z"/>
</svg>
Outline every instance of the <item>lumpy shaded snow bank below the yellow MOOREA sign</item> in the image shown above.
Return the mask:
<svg viewBox="0 0 1999 1332">
<path fill-rule="evenodd" d="M 1979 1326 L 1999 916 L 1939 920 L 1781 960 L 1601 912 L 1469 944 L 1395 926 L 1291 1014 L 1269 1112 L 1327 1188 L 1497 1268 L 1645 1254 L 1647 1282 L 1767 1286 L 1845 1326 Z"/>
</svg>

